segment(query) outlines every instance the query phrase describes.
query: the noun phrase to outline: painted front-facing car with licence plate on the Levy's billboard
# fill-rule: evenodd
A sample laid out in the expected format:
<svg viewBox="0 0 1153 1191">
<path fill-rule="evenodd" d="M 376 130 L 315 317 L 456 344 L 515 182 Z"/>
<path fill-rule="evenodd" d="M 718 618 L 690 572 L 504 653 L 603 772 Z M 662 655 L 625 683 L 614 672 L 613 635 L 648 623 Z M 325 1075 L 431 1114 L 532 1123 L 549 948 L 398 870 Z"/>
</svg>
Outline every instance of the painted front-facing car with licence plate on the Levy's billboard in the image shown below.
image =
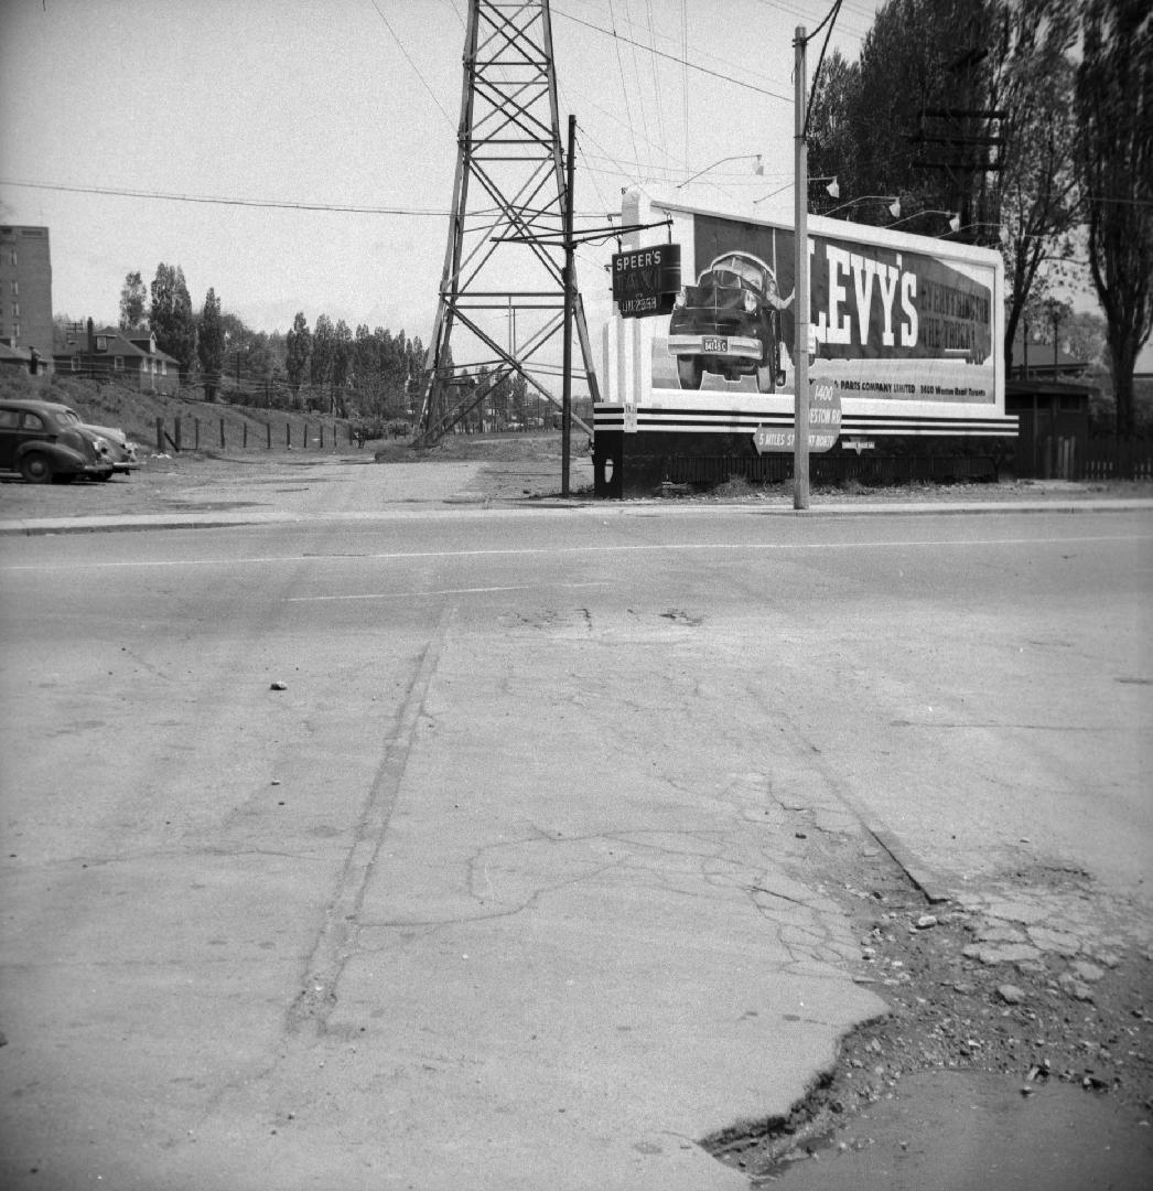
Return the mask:
<svg viewBox="0 0 1153 1191">
<path fill-rule="evenodd" d="M 784 385 L 781 311 L 791 301 L 748 252 L 725 252 L 677 295 L 669 320 L 669 353 L 677 357 L 682 388 L 700 388 L 704 373 L 726 380 L 753 375 L 760 393 Z"/>
</svg>

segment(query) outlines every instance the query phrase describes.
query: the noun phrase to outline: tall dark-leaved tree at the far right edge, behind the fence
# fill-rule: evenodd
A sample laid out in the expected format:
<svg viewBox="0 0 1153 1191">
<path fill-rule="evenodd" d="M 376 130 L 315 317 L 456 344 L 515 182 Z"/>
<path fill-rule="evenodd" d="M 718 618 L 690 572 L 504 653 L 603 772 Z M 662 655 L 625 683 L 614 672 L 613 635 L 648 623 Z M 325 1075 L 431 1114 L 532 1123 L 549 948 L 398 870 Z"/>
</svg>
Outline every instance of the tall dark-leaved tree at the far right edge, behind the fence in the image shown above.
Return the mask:
<svg viewBox="0 0 1153 1191">
<path fill-rule="evenodd" d="M 1153 329 L 1153 10 L 1085 0 L 1077 70 L 1089 272 L 1105 316 L 1117 437 L 1136 430 L 1133 368 Z"/>
</svg>

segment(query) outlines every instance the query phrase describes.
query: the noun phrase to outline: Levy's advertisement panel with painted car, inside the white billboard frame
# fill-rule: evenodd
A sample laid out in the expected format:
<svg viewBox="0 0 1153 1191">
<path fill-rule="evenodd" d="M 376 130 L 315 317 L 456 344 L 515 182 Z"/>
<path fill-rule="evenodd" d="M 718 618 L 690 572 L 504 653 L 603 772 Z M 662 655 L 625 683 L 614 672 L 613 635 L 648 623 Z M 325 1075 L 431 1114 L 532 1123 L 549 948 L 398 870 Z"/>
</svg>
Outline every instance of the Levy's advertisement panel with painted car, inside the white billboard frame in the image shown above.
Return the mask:
<svg viewBox="0 0 1153 1191">
<path fill-rule="evenodd" d="M 791 394 L 792 229 L 703 212 L 675 216 L 689 283 L 668 325 L 656 326 L 653 388 L 702 398 Z M 813 380 L 847 398 L 997 404 L 995 254 L 828 219 L 814 224 Z"/>
</svg>

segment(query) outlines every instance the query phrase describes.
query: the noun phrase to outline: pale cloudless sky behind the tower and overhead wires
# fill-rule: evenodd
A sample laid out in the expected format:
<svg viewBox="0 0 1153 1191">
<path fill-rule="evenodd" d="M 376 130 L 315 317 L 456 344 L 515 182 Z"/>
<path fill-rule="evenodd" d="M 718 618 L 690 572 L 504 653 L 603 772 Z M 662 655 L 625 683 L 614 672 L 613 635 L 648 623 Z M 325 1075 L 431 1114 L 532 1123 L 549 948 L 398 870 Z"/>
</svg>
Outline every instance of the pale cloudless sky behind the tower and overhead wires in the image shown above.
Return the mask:
<svg viewBox="0 0 1153 1191">
<path fill-rule="evenodd" d="M 578 124 L 578 224 L 619 211 L 622 186 L 675 185 L 740 154 L 763 154 L 764 176 L 752 161 L 727 163 L 694 183 L 696 197 L 747 204 L 788 186 L 794 30 L 814 29 L 828 6 L 553 0 L 562 138 L 570 112 Z M 875 7 L 846 0 L 833 44 L 856 57 Z M 125 274 L 149 283 L 164 262 L 183 268 L 194 306 L 212 286 L 257 330 L 287 330 L 303 310 L 309 325 L 326 313 L 427 343 L 465 12 L 466 0 L 0 0 L 0 220 L 49 227 L 56 313 L 114 322 Z M 791 192 L 757 210 L 788 213 Z M 610 308 L 600 264 L 614 248 L 578 257 L 594 325 Z"/>
</svg>

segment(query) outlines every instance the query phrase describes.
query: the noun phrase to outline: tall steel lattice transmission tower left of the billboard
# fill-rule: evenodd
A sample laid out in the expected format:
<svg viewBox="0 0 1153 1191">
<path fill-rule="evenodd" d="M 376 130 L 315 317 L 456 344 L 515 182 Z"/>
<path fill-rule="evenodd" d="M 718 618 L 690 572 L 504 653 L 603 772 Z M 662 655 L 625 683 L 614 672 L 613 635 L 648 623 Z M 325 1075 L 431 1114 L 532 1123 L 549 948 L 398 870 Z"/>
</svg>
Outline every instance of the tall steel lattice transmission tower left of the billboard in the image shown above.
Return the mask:
<svg viewBox="0 0 1153 1191">
<path fill-rule="evenodd" d="M 562 374 L 568 198 L 549 0 L 470 0 L 457 144 L 421 444 L 507 391 L 516 374 L 529 397 L 560 405 L 553 391 Z M 595 401 L 584 311 L 576 278 L 570 282 Z"/>
</svg>

